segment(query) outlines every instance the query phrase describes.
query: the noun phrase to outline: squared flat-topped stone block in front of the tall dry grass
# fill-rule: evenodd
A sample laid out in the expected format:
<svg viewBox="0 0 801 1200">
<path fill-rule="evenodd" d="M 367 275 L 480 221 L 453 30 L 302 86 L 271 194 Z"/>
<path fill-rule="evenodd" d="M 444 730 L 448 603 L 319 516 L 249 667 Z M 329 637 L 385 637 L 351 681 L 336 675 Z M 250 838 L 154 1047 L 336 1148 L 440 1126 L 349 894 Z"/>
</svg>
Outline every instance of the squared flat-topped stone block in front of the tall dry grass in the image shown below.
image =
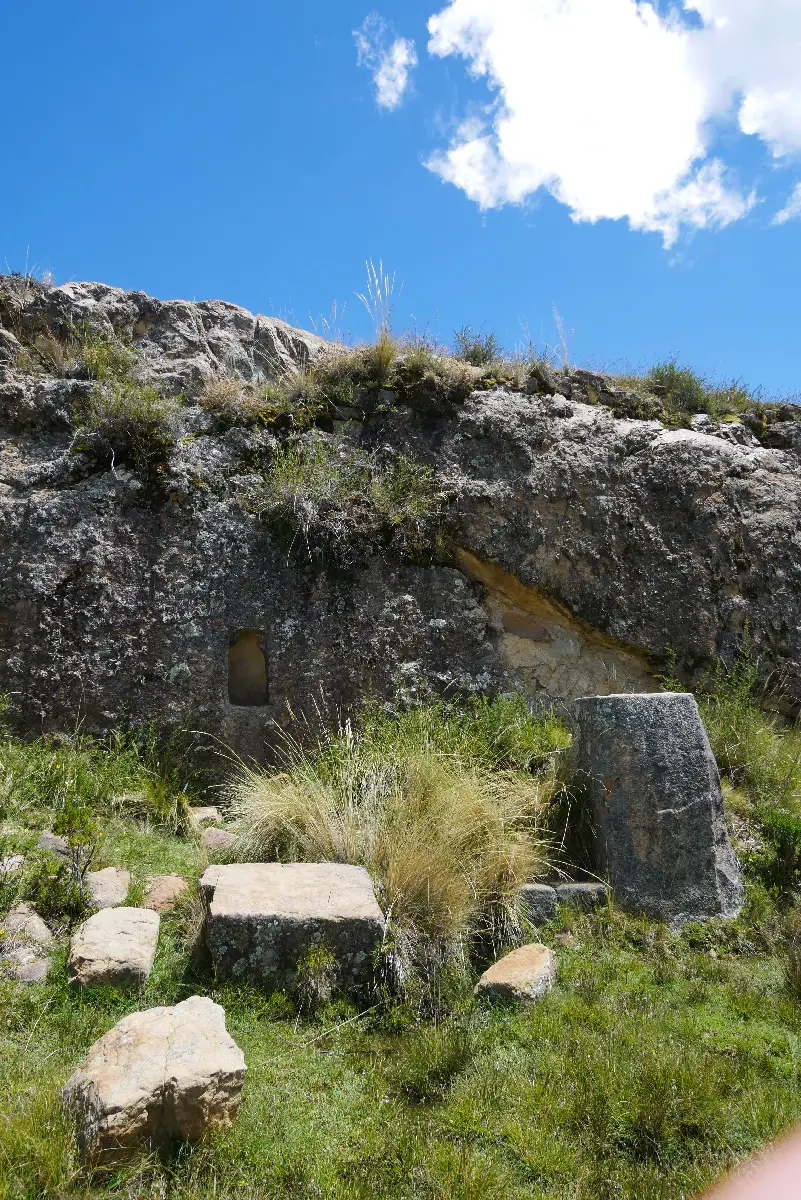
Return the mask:
<svg viewBox="0 0 801 1200">
<path fill-rule="evenodd" d="M 362 866 L 341 863 L 235 863 L 211 866 L 206 940 L 217 976 L 291 990 L 297 966 L 324 946 L 336 984 L 368 985 L 385 920 Z"/>
</svg>

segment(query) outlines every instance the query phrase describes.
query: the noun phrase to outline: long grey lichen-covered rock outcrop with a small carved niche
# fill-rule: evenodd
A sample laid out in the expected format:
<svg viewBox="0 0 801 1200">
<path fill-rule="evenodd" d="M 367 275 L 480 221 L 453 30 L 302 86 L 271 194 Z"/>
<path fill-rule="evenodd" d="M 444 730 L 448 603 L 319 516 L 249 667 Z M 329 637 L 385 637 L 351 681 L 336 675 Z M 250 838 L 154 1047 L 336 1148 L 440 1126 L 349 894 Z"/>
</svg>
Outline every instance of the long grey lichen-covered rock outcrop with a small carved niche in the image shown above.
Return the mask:
<svg viewBox="0 0 801 1200">
<path fill-rule="evenodd" d="M 398 688 L 646 691 L 670 653 L 692 680 L 746 628 L 765 677 L 801 703 L 794 434 L 616 416 L 636 409 L 588 372 L 541 380 L 555 398 L 499 388 L 439 415 L 391 396 L 372 415 L 337 410 L 324 439 L 436 469 L 451 538 L 427 562 L 371 550 L 343 565 L 251 511 L 276 436 L 198 406 L 222 368 L 303 366 L 319 338 L 101 284 L 0 292 L 0 691 L 20 730 L 191 714 L 259 754 L 271 720 L 321 692 L 335 713 Z M 14 329 L 78 326 L 131 341 L 138 370 L 180 396 L 157 486 L 76 452 L 71 406 L 90 384 L 31 373 L 14 347 Z M 261 703 L 231 703 L 233 647 L 263 655 Z"/>
</svg>

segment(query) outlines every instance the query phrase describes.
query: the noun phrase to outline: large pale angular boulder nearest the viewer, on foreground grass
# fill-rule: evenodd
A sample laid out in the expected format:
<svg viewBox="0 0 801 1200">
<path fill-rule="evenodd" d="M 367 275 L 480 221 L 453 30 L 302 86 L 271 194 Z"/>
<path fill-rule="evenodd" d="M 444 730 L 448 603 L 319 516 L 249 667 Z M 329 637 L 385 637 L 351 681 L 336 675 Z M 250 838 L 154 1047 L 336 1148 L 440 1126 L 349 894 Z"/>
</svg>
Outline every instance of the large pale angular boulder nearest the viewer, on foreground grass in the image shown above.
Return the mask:
<svg viewBox="0 0 801 1200">
<path fill-rule="evenodd" d="M 194 1141 L 231 1123 L 242 1099 L 245 1056 L 225 1012 L 204 996 L 124 1016 L 91 1048 L 61 1092 L 91 1162 L 118 1162 L 140 1146 Z"/>
</svg>

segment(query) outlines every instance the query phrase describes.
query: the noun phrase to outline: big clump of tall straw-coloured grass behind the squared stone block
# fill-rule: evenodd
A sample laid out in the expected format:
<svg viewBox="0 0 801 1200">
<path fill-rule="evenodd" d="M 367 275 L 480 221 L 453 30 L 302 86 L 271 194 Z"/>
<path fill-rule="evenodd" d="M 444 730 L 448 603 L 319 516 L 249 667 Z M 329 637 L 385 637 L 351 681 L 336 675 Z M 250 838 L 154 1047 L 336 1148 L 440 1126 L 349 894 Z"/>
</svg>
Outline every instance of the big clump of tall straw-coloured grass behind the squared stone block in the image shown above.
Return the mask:
<svg viewBox="0 0 801 1200">
<path fill-rule="evenodd" d="M 281 770 L 242 767 L 229 788 L 248 859 L 367 868 L 402 986 L 466 961 L 476 943 L 496 948 L 518 937 L 517 890 L 548 865 L 544 821 L 564 732 L 544 719 L 535 774 L 499 755 L 502 720 L 492 702 L 484 707 L 492 746 L 464 716 L 453 718 L 463 724 L 462 742 L 436 730 L 447 720 L 446 707 L 434 704 L 396 721 L 395 738 L 391 720 L 368 715 L 311 751 L 288 739 Z M 537 724 L 528 713 L 525 720 Z M 514 745 L 524 742 L 520 724 Z"/>
</svg>

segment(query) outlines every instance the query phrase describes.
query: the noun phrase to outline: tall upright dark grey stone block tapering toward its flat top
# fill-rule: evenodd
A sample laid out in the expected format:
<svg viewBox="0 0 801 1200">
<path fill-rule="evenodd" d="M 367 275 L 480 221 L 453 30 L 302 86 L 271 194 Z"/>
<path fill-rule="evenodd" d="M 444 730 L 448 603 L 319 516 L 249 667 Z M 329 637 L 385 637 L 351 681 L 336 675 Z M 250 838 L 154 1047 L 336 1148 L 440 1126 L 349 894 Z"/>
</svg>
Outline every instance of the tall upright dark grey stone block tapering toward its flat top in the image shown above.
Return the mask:
<svg viewBox="0 0 801 1200">
<path fill-rule="evenodd" d="M 736 917 L 740 870 L 694 698 L 588 696 L 572 708 L 574 781 L 618 901 L 670 922 Z"/>
</svg>

